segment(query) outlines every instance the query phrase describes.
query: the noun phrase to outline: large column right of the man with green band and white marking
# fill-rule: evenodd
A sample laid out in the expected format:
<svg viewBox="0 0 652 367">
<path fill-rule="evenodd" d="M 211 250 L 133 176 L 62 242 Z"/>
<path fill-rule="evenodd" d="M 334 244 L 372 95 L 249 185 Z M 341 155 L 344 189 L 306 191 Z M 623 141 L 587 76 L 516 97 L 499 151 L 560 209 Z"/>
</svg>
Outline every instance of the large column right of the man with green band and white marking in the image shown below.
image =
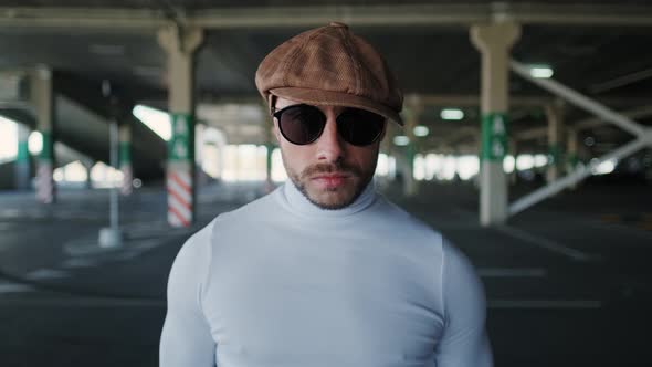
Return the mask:
<svg viewBox="0 0 652 367">
<path fill-rule="evenodd" d="M 482 53 L 480 223 L 484 227 L 502 224 L 508 216 L 503 169 L 507 154 L 508 61 L 509 50 L 519 36 L 520 27 L 511 22 L 471 28 L 471 40 Z"/>
</svg>

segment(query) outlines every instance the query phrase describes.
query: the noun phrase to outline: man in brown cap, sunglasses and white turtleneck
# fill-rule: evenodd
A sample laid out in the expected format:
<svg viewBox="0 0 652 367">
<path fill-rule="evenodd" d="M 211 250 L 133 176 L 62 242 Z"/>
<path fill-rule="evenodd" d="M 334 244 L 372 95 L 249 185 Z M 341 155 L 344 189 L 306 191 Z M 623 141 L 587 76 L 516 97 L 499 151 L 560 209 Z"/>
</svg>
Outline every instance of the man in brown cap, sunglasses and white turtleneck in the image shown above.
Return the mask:
<svg viewBox="0 0 652 367">
<path fill-rule="evenodd" d="M 492 365 L 466 259 L 374 187 L 402 94 L 345 24 L 304 32 L 256 72 L 290 177 L 183 245 L 162 367 Z"/>
</svg>

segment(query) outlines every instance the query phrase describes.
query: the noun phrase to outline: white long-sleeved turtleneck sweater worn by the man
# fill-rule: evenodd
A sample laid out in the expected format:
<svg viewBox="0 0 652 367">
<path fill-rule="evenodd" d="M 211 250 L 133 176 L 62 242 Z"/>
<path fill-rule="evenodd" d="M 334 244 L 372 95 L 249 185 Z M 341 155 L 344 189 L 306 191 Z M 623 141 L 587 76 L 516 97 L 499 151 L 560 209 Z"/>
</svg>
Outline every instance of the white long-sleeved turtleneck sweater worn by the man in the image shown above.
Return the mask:
<svg viewBox="0 0 652 367">
<path fill-rule="evenodd" d="M 286 184 L 183 245 L 160 366 L 486 367 L 484 321 L 465 256 L 374 185 L 323 210 Z"/>
</svg>

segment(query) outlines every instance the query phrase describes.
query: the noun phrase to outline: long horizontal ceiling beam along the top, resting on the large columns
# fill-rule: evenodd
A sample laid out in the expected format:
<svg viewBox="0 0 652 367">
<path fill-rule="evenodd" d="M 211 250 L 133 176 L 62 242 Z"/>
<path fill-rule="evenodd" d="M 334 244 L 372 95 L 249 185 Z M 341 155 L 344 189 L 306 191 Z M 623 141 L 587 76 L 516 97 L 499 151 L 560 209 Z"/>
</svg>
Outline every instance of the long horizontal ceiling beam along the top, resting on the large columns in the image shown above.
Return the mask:
<svg viewBox="0 0 652 367">
<path fill-rule="evenodd" d="M 318 6 L 181 9 L 180 22 L 204 29 L 282 29 L 329 21 L 355 27 L 469 27 L 513 21 L 538 25 L 652 27 L 642 6 L 484 3 L 414 6 Z M 0 7 L 0 28 L 158 29 L 171 22 L 160 9 Z"/>
</svg>

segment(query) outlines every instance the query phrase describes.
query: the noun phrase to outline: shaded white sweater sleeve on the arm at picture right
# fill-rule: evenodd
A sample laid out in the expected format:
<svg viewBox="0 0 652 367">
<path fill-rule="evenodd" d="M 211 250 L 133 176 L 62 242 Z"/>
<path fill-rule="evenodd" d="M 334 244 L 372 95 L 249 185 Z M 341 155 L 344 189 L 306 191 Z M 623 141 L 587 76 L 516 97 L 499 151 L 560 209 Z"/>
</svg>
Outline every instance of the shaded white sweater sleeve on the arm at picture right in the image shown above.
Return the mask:
<svg viewBox="0 0 652 367">
<path fill-rule="evenodd" d="M 491 367 L 482 283 L 464 254 L 445 241 L 442 266 L 445 331 L 435 350 L 437 366 Z"/>
</svg>

